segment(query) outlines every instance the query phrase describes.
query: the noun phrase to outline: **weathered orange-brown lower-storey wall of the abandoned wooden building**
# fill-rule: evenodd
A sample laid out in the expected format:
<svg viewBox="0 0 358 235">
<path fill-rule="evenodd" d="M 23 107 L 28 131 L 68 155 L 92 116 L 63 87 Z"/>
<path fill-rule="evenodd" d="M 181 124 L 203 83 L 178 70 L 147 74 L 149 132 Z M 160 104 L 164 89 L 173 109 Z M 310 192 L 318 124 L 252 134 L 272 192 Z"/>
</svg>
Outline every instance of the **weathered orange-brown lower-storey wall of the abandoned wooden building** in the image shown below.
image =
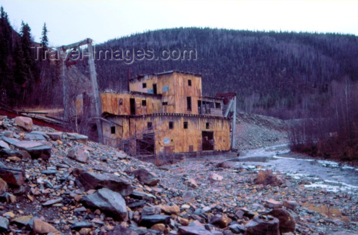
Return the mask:
<svg viewBox="0 0 358 235">
<path fill-rule="evenodd" d="M 207 118 L 195 116 L 146 116 L 146 117 L 113 117 L 110 119 L 116 123 L 122 123 L 122 133 L 110 136 L 109 123 L 103 122 L 103 132 L 110 138 L 127 139 L 130 136 L 143 138 L 143 134 L 155 134 L 155 154 L 178 153 L 189 151 L 202 151 L 202 131 L 214 133 L 214 150 L 230 150 L 230 119 Z M 169 129 L 169 121 L 173 121 L 173 129 Z M 184 122 L 188 122 L 188 128 L 184 129 Z M 152 122 L 153 129 L 148 130 L 148 122 Z M 206 123 L 209 122 L 209 129 Z M 120 130 L 120 129 L 119 129 Z M 109 138 L 105 143 L 111 143 Z M 165 143 L 165 139 L 169 142 Z M 118 144 L 119 142 L 116 142 Z M 131 142 L 131 152 L 135 154 L 136 142 Z M 114 146 L 114 145 L 112 145 Z"/>
</svg>

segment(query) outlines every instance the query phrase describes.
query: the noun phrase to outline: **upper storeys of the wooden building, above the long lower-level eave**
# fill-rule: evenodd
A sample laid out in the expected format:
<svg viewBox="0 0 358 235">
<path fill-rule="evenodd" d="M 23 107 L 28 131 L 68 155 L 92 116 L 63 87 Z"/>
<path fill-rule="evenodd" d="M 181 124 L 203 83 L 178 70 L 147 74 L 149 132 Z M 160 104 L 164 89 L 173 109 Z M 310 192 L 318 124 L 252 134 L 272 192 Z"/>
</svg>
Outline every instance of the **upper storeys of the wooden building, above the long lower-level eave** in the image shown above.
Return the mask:
<svg viewBox="0 0 358 235">
<path fill-rule="evenodd" d="M 154 113 L 222 116 L 223 99 L 202 95 L 202 76 L 168 71 L 140 75 L 127 93 L 101 93 L 102 112 L 114 115 Z"/>
</svg>

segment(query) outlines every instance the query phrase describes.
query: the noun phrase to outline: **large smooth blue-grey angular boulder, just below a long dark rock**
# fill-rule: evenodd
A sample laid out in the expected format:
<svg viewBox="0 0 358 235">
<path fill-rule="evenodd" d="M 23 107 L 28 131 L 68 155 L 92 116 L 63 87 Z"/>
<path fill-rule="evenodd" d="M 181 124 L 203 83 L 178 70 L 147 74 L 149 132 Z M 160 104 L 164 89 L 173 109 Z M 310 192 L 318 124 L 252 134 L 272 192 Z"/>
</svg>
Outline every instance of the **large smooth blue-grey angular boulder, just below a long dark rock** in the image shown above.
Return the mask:
<svg viewBox="0 0 358 235">
<path fill-rule="evenodd" d="M 82 197 L 81 201 L 87 206 L 98 208 L 104 213 L 113 215 L 115 219 L 127 219 L 126 203 L 121 194 L 117 192 L 102 188 L 93 194 Z"/>
</svg>

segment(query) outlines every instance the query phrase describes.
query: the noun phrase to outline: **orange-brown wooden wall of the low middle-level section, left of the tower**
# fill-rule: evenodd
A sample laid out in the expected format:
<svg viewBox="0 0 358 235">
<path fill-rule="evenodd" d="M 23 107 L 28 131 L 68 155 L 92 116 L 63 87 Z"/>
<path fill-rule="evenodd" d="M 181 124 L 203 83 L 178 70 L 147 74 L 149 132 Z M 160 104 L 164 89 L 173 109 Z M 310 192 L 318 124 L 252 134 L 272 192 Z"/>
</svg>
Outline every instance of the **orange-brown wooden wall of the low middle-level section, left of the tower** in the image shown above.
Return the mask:
<svg viewBox="0 0 358 235">
<path fill-rule="evenodd" d="M 130 93 L 101 93 L 102 113 L 130 115 L 130 98 L 135 98 L 136 100 L 136 115 L 162 112 L 162 101 L 159 96 Z M 122 99 L 122 105 L 120 105 L 120 99 Z M 142 106 L 142 100 L 146 100 L 146 106 Z"/>
</svg>

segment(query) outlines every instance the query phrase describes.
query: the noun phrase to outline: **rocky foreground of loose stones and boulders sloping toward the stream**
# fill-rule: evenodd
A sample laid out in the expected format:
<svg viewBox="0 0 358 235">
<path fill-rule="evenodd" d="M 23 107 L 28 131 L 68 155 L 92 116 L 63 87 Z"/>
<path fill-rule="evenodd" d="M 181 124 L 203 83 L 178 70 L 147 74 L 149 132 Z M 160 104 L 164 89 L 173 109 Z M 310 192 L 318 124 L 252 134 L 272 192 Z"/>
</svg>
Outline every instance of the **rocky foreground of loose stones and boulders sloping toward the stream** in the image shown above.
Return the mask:
<svg viewBox="0 0 358 235">
<path fill-rule="evenodd" d="M 358 234 L 357 192 L 306 189 L 279 172 L 155 167 L 24 117 L 0 117 L 0 155 L 4 234 Z"/>
</svg>

